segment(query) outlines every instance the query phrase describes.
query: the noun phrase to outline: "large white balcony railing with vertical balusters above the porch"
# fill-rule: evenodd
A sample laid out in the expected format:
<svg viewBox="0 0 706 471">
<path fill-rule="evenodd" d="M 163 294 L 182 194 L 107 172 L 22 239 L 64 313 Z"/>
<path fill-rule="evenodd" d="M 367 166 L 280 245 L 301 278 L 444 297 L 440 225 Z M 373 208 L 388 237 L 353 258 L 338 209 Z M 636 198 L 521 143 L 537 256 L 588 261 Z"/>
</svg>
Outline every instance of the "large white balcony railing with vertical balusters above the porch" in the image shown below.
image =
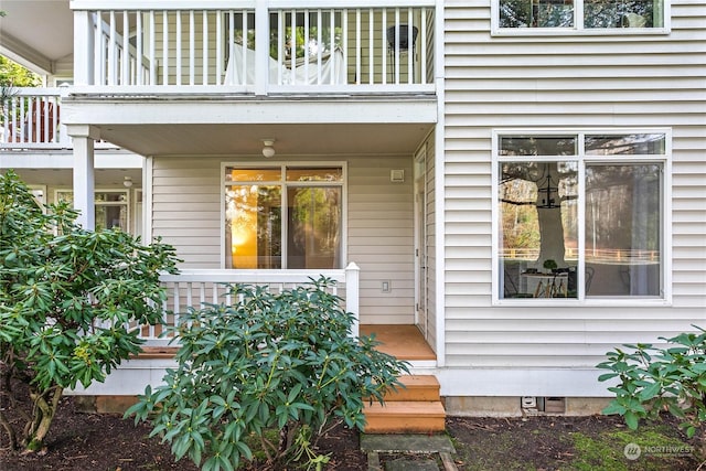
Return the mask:
<svg viewBox="0 0 706 471">
<path fill-rule="evenodd" d="M 434 92 L 432 0 L 184 3 L 74 0 L 76 84 L 126 93 Z"/>
</svg>

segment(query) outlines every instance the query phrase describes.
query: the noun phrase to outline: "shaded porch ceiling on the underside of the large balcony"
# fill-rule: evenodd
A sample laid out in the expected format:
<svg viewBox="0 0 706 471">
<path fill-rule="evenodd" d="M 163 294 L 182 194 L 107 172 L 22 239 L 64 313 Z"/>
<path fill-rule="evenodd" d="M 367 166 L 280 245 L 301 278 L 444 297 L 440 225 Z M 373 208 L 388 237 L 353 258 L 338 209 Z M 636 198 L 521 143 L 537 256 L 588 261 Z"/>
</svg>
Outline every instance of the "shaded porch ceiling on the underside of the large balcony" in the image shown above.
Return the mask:
<svg viewBox="0 0 706 471">
<path fill-rule="evenodd" d="M 277 157 L 411 154 L 429 124 L 110 125 L 100 137 L 141 156 L 260 156 L 274 138 Z"/>
</svg>

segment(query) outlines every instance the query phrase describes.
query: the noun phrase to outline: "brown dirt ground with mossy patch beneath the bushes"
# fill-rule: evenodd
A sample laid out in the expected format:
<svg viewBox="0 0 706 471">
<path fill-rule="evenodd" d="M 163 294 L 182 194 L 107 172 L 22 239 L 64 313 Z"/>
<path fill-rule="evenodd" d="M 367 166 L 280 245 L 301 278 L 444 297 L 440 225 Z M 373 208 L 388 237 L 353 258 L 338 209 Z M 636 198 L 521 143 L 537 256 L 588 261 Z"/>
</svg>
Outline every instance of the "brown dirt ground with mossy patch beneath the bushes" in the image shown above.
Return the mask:
<svg viewBox="0 0 706 471">
<path fill-rule="evenodd" d="M 148 439 L 149 427 L 136 427 L 132 420 L 122 420 L 118 415 L 79 413 L 69 397 L 62 402 L 44 453 L 10 452 L 7 437 L 0 437 L 0 470 L 196 469 L 186 460 L 174 463 L 169 445 Z M 616 417 L 450 417 L 447 432 L 457 449 L 453 459 L 461 471 L 686 471 L 699 465 L 693 453 L 695 443 L 686 440 L 674 420 L 644 426 L 633 433 Z M 639 457 L 633 453 L 634 459 L 625 458 L 629 443 L 640 447 Z M 320 451 L 331 453 L 328 470 L 367 469 L 355 431 L 336 430 L 321 442 Z"/>
</svg>

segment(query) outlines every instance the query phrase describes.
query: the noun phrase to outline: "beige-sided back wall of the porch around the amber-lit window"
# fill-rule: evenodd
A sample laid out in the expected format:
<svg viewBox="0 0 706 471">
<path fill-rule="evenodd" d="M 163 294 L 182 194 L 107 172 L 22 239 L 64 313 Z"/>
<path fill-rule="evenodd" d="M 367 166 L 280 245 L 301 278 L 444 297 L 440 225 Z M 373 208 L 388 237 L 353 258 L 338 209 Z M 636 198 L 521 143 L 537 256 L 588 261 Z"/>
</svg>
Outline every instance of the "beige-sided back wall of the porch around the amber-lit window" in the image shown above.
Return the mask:
<svg viewBox="0 0 706 471">
<path fill-rule="evenodd" d="M 411 157 L 325 156 L 296 160 L 347 162 L 347 263 L 361 268 L 361 322 L 414 322 Z M 221 162 L 257 158 L 153 158 L 152 234 L 176 247 L 183 268 L 221 268 Z M 382 292 L 389 281 L 392 291 Z"/>
</svg>

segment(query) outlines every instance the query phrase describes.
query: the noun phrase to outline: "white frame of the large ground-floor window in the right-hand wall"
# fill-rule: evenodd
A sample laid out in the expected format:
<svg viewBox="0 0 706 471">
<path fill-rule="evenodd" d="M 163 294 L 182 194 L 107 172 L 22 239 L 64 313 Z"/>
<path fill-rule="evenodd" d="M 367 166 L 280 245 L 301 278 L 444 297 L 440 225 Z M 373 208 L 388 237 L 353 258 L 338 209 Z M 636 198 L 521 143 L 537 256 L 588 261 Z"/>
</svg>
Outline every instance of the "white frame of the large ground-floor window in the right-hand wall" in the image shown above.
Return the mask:
<svg viewBox="0 0 706 471">
<path fill-rule="evenodd" d="M 586 154 L 585 137 L 588 136 L 624 136 L 624 135 L 662 133 L 665 138 L 664 154 L 632 154 L 632 156 L 590 156 Z M 527 137 L 554 137 L 575 136 L 577 139 L 577 153 L 574 156 L 501 156 L 500 138 L 505 136 Z M 605 163 L 660 163 L 662 165 L 661 180 L 661 268 L 660 279 L 662 292 L 660 297 L 586 297 L 580 290 L 577 298 L 501 298 L 500 276 L 502 271 L 502 258 L 500 247 L 500 205 L 498 195 L 500 190 L 500 163 L 509 161 L 537 161 L 558 162 L 576 161 L 578 163 L 578 263 L 579 283 L 584 281 L 586 267 L 586 165 Z M 498 128 L 492 130 L 491 150 L 491 214 L 492 214 L 492 304 L 493 306 L 521 306 L 521 307 L 616 307 L 616 306 L 671 306 L 672 304 L 672 129 L 671 128 Z"/>
</svg>

